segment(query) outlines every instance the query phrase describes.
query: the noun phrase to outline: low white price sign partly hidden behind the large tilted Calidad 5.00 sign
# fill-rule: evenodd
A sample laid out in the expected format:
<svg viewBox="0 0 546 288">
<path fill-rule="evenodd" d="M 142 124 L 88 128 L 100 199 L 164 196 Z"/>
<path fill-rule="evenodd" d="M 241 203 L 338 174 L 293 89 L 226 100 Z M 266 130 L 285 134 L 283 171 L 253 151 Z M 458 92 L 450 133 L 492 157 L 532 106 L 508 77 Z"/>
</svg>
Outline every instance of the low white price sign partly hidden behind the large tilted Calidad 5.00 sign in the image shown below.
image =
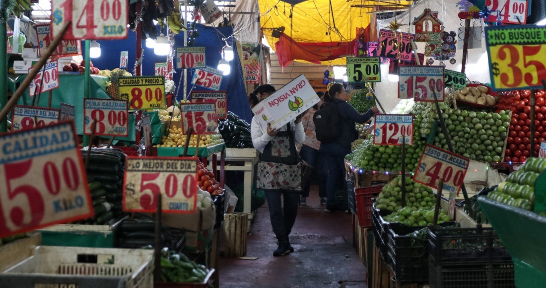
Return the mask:
<svg viewBox="0 0 546 288">
<path fill-rule="evenodd" d="M 59 109 L 15 105 L 11 117 L 11 131 L 32 129 L 55 124 L 59 121 Z"/>
</svg>

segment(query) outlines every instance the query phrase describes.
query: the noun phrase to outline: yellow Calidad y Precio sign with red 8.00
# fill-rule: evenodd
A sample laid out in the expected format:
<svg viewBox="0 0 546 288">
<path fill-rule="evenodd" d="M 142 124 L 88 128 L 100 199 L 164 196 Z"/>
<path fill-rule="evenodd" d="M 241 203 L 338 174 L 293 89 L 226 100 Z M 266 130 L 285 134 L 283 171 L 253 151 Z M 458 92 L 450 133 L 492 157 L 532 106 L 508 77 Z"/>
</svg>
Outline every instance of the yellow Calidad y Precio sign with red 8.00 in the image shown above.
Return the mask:
<svg viewBox="0 0 546 288">
<path fill-rule="evenodd" d="M 129 110 L 165 108 L 163 76 L 120 77 L 118 95 L 130 103 Z"/>
</svg>

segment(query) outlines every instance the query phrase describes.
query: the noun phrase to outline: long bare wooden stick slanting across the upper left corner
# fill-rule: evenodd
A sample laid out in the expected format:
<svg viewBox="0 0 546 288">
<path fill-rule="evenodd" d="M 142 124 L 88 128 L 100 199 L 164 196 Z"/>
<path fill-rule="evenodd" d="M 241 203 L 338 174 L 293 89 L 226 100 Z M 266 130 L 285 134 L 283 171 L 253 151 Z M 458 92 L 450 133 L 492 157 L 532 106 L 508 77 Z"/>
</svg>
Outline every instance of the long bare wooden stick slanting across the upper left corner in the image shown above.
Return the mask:
<svg viewBox="0 0 546 288">
<path fill-rule="evenodd" d="M 44 54 L 41 55 L 40 60 L 38 60 L 38 63 L 28 73 L 27 78 L 25 78 L 19 88 L 15 90 L 15 93 L 13 93 L 13 96 L 11 96 L 5 107 L 2 107 L 2 111 L 0 111 L 0 122 L 4 120 L 6 116 L 8 116 L 9 111 L 11 111 L 11 109 L 13 109 L 13 107 L 17 104 L 17 101 L 19 101 L 19 98 L 21 98 L 25 90 L 31 84 L 31 81 L 34 79 L 36 74 L 38 74 L 41 67 L 44 66 L 44 64 L 48 61 L 49 56 L 51 56 L 53 51 L 57 49 L 57 46 L 59 45 L 59 43 L 61 43 L 61 39 L 63 38 L 64 33 L 66 33 L 68 27 L 70 26 L 70 23 L 71 21 L 67 21 L 66 23 L 64 23 L 64 26 L 61 28 L 60 33 L 55 36 L 55 39 L 53 39 L 53 42 L 51 42 L 51 44 L 48 46 L 48 49 L 46 49 Z"/>
</svg>

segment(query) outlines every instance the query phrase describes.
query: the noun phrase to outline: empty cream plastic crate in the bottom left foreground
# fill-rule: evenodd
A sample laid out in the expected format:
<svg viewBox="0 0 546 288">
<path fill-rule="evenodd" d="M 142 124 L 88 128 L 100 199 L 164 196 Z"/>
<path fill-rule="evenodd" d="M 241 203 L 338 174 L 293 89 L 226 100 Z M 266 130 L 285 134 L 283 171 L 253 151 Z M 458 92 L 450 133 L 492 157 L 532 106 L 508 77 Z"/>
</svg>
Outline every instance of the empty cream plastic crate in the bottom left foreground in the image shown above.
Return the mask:
<svg viewBox="0 0 546 288">
<path fill-rule="evenodd" d="M 0 273 L 5 287 L 74 284 L 79 288 L 149 288 L 153 250 L 35 246 L 32 255 Z M 112 263 L 113 262 L 113 263 Z"/>
</svg>

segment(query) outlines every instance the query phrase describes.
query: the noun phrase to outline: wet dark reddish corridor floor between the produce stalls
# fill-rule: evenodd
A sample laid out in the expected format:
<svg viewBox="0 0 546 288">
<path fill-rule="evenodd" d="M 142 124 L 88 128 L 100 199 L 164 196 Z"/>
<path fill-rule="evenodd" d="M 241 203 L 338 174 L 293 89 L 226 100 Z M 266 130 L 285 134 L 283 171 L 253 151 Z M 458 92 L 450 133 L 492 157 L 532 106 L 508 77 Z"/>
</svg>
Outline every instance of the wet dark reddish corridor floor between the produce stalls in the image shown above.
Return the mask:
<svg viewBox="0 0 546 288">
<path fill-rule="evenodd" d="M 219 287 L 366 287 L 365 266 L 353 248 L 351 214 L 325 212 L 317 190 L 312 186 L 307 205 L 298 209 L 290 234 L 295 251 L 287 256 L 273 256 L 277 244 L 268 203 L 258 208 L 246 255 L 258 259 L 221 257 Z"/>
</svg>

